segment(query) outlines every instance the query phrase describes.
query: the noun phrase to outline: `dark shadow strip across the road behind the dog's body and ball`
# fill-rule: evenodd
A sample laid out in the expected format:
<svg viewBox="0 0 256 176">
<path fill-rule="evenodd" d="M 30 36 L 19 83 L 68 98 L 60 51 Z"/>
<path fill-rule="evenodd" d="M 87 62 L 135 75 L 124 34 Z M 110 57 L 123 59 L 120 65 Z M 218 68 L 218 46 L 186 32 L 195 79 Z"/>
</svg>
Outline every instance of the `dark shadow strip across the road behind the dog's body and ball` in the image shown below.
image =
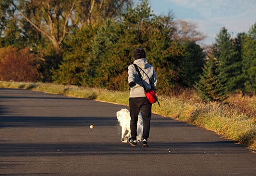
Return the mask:
<svg viewBox="0 0 256 176">
<path fill-rule="evenodd" d="M 0 113 L 6 113 L 0 107 Z M 1 114 L 0 114 L 1 115 Z M 97 126 L 119 126 L 116 117 L 26 117 L 26 116 L 0 116 L 0 127 L 67 127 L 67 126 L 86 126 L 94 124 Z M 193 127 L 184 122 L 174 121 L 171 118 L 154 117 L 151 126 L 175 126 Z"/>
</svg>

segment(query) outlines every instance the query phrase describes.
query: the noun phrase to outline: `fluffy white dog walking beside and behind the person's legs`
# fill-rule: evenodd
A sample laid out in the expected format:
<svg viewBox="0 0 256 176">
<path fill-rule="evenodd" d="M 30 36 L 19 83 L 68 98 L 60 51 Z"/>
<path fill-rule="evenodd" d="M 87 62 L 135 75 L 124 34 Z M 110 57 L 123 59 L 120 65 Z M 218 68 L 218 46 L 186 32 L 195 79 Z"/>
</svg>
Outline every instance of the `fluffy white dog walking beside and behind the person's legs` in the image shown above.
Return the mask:
<svg viewBox="0 0 256 176">
<path fill-rule="evenodd" d="M 122 127 L 122 135 L 121 135 L 121 141 L 127 142 L 131 135 L 131 116 L 128 109 L 121 109 L 116 112 L 116 116 L 119 122 L 119 125 Z M 141 113 L 139 113 L 138 116 L 138 123 L 137 123 L 137 141 L 142 141 L 142 132 L 143 132 L 143 119 L 141 116 Z M 128 133 L 125 135 L 125 132 L 128 131 Z"/>
</svg>

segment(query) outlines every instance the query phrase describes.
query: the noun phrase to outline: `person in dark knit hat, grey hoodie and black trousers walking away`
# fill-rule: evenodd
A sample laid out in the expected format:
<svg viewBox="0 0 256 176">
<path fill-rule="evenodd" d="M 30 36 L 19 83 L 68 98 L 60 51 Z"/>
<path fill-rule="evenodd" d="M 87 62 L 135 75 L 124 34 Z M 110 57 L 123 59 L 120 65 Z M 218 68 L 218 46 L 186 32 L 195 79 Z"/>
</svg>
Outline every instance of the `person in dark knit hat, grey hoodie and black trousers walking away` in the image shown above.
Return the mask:
<svg viewBox="0 0 256 176">
<path fill-rule="evenodd" d="M 145 95 L 143 84 L 147 90 L 153 89 L 156 92 L 157 77 L 154 67 L 146 61 L 145 50 L 142 48 L 135 49 L 133 58 L 133 64 L 128 67 L 128 83 L 131 87 L 129 98 L 131 137 L 127 143 L 132 147 L 137 146 L 137 122 L 141 111 L 143 118 L 142 147 L 148 147 L 152 104 Z M 140 71 L 140 74 L 137 70 Z"/>
</svg>

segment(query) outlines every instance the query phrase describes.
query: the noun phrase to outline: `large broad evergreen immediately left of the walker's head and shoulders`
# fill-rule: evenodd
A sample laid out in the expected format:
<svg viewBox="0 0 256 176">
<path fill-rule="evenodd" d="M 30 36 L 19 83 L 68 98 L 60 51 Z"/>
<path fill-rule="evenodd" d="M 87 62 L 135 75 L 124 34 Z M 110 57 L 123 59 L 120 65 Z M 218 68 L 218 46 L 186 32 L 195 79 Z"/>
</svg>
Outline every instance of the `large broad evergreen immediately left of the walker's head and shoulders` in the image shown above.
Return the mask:
<svg viewBox="0 0 256 176">
<path fill-rule="evenodd" d="M 93 75 L 93 83 L 100 87 L 112 90 L 128 89 L 126 80 L 122 86 L 116 82 L 116 78 L 123 74 L 129 65 L 127 48 L 124 47 L 123 29 L 121 23 L 107 20 L 98 30 L 92 43 L 90 73 Z M 127 45 L 127 43 L 126 43 Z"/>
</svg>

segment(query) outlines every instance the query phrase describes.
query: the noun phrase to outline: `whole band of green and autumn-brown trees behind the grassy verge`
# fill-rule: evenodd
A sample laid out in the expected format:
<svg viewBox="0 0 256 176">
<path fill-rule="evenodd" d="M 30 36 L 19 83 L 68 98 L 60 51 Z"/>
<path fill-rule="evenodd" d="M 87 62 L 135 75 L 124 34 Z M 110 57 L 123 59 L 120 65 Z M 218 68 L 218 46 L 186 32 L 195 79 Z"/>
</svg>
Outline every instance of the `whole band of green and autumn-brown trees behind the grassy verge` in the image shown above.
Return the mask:
<svg viewBox="0 0 256 176">
<path fill-rule="evenodd" d="M 231 38 L 223 28 L 204 50 L 196 25 L 156 15 L 147 0 L 3 0 L 0 79 L 128 90 L 127 66 L 143 47 L 158 93 L 194 89 L 204 100 L 254 93 L 255 25 Z"/>
</svg>

